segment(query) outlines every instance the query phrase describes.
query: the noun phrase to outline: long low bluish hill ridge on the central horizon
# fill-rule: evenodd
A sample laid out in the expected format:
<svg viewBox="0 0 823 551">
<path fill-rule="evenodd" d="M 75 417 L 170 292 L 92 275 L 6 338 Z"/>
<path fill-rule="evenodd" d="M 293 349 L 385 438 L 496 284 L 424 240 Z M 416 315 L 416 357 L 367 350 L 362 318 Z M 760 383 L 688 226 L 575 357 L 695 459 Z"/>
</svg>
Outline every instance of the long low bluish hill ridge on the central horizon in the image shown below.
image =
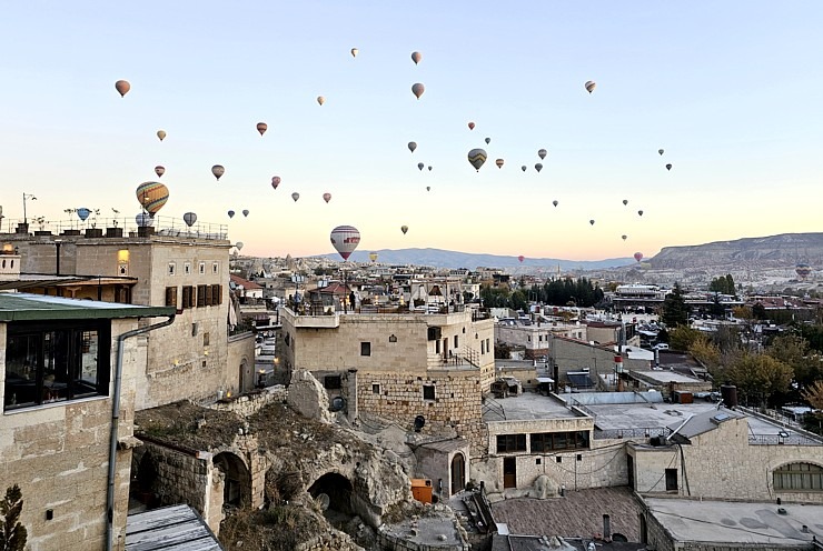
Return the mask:
<svg viewBox="0 0 823 551">
<path fill-rule="evenodd" d="M 349 260 L 355 262 L 368 262 L 369 253 L 378 254 L 377 262 L 384 264 L 416 264 L 432 266 L 435 268 L 467 268 L 474 270 L 477 267 L 489 268 L 522 268 L 524 271 L 535 271 L 535 268 L 542 268 L 546 271 L 582 271 L 582 270 L 603 270 L 607 268 L 618 268 L 634 264 L 632 258 L 616 258 L 605 260 L 562 260 L 562 259 L 535 259 L 526 258 L 520 262 L 517 257 L 505 257 L 500 254 L 475 254 L 469 252 L 446 251 L 443 249 L 380 249 L 375 251 L 355 251 Z M 324 254 L 324 257 L 339 260 L 337 254 Z"/>
</svg>

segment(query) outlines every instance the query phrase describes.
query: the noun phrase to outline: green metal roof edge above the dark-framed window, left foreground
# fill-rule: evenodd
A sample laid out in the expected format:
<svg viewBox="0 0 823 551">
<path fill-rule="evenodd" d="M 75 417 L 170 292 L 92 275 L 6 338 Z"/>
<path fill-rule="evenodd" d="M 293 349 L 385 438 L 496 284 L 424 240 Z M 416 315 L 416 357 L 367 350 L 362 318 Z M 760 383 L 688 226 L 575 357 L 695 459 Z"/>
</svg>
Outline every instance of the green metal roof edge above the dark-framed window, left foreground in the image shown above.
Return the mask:
<svg viewBox="0 0 823 551">
<path fill-rule="evenodd" d="M 0 292 L 0 322 L 155 318 L 173 315 L 175 307 L 140 307 L 119 302 L 65 299 L 46 294 Z"/>
</svg>

